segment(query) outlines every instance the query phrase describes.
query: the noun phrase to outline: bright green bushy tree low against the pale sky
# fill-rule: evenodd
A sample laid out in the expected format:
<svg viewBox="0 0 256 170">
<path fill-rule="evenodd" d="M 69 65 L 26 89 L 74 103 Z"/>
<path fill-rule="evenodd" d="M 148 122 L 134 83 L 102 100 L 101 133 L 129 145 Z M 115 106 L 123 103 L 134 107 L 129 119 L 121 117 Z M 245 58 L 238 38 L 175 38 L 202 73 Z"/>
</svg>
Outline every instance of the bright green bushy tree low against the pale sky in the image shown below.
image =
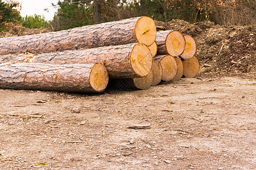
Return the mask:
<svg viewBox="0 0 256 170">
<path fill-rule="evenodd" d="M 49 28 L 50 24 L 46 21 L 44 16 L 34 15 L 34 16 L 25 16 L 20 19 L 20 24 L 22 27 L 26 28 Z"/>
</svg>

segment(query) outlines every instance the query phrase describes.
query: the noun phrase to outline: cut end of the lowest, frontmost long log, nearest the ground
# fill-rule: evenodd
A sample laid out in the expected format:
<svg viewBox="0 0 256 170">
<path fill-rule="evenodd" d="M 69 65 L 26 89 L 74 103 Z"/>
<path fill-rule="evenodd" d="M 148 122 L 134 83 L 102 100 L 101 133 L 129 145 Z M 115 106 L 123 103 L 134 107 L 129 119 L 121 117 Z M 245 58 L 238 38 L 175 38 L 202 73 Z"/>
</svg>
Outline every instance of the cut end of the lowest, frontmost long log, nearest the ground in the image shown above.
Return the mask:
<svg viewBox="0 0 256 170">
<path fill-rule="evenodd" d="M 109 82 L 109 74 L 106 70 L 106 67 L 101 63 L 97 63 L 92 67 L 92 71 L 90 71 L 90 86 L 97 91 L 104 91 L 108 86 Z"/>
</svg>

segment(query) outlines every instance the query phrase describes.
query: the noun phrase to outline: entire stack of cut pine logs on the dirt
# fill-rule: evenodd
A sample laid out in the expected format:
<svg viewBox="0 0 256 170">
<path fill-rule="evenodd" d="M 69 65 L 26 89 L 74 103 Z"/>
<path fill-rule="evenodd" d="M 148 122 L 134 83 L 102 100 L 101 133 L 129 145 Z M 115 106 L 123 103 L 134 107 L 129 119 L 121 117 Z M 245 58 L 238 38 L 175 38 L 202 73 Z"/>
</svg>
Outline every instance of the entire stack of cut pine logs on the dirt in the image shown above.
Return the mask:
<svg viewBox="0 0 256 170">
<path fill-rule="evenodd" d="M 195 40 L 147 16 L 0 39 L 0 88 L 145 89 L 199 71 Z M 156 55 L 157 54 L 157 55 Z M 109 80 L 110 79 L 110 80 Z"/>
</svg>

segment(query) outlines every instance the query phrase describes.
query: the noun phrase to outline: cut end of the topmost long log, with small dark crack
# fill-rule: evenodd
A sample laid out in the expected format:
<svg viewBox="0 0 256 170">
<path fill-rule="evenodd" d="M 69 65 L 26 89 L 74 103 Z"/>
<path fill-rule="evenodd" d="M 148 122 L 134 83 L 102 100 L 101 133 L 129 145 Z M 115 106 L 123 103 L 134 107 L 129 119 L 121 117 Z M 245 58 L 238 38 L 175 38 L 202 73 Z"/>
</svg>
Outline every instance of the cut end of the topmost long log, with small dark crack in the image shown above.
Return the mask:
<svg viewBox="0 0 256 170">
<path fill-rule="evenodd" d="M 154 20 L 147 16 L 139 18 L 135 25 L 135 36 L 142 44 L 150 46 L 156 38 L 156 25 Z"/>
</svg>

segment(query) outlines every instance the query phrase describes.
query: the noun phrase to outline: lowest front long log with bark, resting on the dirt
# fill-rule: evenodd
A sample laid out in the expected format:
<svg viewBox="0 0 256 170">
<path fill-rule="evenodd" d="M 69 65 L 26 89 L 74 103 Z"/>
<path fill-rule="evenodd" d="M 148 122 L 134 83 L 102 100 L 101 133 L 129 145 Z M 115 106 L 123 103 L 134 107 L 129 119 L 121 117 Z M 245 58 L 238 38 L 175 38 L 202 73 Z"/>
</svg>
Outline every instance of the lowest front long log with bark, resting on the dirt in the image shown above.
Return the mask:
<svg viewBox="0 0 256 170">
<path fill-rule="evenodd" d="M 0 88 L 101 92 L 108 85 L 108 80 L 108 72 L 101 63 L 52 65 L 6 62 L 0 64 Z"/>
</svg>

